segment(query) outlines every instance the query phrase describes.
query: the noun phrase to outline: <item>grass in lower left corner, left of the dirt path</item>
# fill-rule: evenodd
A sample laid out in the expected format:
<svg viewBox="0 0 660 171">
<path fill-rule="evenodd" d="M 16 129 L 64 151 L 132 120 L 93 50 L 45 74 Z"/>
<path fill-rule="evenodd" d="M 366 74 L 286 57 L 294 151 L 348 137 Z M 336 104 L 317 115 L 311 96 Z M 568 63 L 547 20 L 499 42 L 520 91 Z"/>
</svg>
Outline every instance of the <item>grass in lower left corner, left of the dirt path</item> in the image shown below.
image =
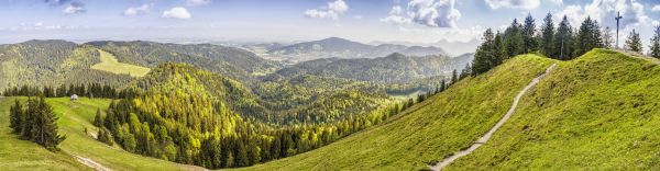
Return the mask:
<svg viewBox="0 0 660 171">
<path fill-rule="evenodd" d="M 9 106 L 13 100 L 0 99 L 1 170 L 90 170 L 64 151 L 51 152 L 28 140 L 20 140 L 9 128 Z"/>
</svg>

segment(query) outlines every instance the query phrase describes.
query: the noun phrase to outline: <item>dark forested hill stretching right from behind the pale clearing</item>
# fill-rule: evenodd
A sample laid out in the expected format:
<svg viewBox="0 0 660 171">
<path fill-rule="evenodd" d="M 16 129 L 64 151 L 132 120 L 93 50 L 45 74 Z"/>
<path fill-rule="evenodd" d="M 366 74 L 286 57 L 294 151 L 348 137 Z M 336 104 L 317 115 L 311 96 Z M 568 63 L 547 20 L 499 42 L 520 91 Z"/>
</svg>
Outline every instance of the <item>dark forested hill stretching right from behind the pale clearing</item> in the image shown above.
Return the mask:
<svg viewBox="0 0 660 171">
<path fill-rule="evenodd" d="M 113 54 L 122 62 L 147 67 L 155 67 L 166 61 L 186 62 L 244 82 L 249 82 L 253 75 L 263 75 L 279 68 L 277 62 L 263 59 L 253 53 L 219 45 L 182 45 L 143 41 L 106 41 L 87 44 Z"/>
</svg>

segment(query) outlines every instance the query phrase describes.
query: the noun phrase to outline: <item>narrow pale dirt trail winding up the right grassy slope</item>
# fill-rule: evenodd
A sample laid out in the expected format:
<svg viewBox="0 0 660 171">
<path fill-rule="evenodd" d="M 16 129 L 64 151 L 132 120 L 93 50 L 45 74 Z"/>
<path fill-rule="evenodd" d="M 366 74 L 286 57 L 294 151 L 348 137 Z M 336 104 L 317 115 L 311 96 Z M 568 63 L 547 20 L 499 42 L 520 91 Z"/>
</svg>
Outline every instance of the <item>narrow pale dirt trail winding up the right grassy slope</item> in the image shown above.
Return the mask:
<svg viewBox="0 0 660 171">
<path fill-rule="evenodd" d="M 493 136 L 493 134 L 495 134 L 495 132 L 497 132 L 497 129 L 499 129 L 499 127 L 502 127 L 502 125 L 504 125 L 504 123 L 506 123 L 506 121 L 512 117 L 512 115 L 514 114 L 514 112 L 516 112 L 516 107 L 518 106 L 518 102 L 520 101 L 520 98 L 522 98 L 522 95 L 525 95 L 525 93 L 527 92 L 527 90 L 531 89 L 532 87 L 535 87 L 537 83 L 539 83 L 539 81 L 541 81 L 541 79 L 543 79 L 548 73 L 550 73 L 550 70 L 552 70 L 554 67 L 557 66 L 557 64 L 552 64 L 552 66 L 548 67 L 548 69 L 546 69 L 546 72 L 543 72 L 541 76 L 535 78 L 534 80 L 531 80 L 531 82 L 525 87 L 525 89 L 522 89 L 522 91 L 520 91 L 518 93 L 518 95 L 516 96 L 516 99 L 514 99 L 514 104 L 512 104 L 512 107 L 509 109 L 509 111 L 506 113 L 506 115 L 504 115 L 504 117 L 502 117 L 502 119 L 499 119 L 499 122 L 497 122 L 497 124 L 495 124 L 495 126 L 493 126 L 493 128 L 491 128 L 491 130 L 488 130 L 488 133 L 486 133 L 483 137 L 479 138 L 472 146 L 470 146 L 470 148 L 459 151 L 457 153 L 454 153 L 453 156 L 450 156 L 449 158 L 446 158 L 444 160 L 442 160 L 442 162 L 436 164 L 436 166 L 431 166 L 431 170 L 442 170 L 442 168 L 449 166 L 451 162 L 453 162 L 454 160 L 457 160 L 460 157 L 470 155 L 472 151 L 476 150 L 476 148 L 481 147 L 482 145 L 486 144 L 486 141 L 488 141 L 488 139 L 491 139 L 491 137 Z"/>
</svg>

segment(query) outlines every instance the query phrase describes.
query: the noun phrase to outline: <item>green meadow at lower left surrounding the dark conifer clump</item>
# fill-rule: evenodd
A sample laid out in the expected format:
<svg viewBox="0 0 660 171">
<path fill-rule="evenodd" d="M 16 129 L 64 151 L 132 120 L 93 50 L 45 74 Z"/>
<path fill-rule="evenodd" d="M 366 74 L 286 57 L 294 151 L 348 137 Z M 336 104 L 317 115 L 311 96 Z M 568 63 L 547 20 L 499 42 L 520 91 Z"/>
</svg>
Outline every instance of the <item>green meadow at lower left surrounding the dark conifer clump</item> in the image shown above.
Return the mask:
<svg viewBox="0 0 660 171">
<path fill-rule="evenodd" d="M 0 99 L 0 167 L 9 170 L 90 170 L 79 164 L 70 155 L 89 158 L 113 170 L 198 170 L 198 167 L 177 164 L 143 157 L 98 141 L 91 137 L 97 128 L 91 124 L 97 109 L 106 111 L 110 100 L 82 98 L 72 102 L 68 98 L 47 99 L 58 115 L 59 134 L 66 139 L 58 146 L 62 151 L 19 140 L 9 129 L 9 106 L 14 98 Z M 26 98 L 20 98 L 24 101 Z M 85 128 L 89 133 L 85 133 Z"/>
</svg>

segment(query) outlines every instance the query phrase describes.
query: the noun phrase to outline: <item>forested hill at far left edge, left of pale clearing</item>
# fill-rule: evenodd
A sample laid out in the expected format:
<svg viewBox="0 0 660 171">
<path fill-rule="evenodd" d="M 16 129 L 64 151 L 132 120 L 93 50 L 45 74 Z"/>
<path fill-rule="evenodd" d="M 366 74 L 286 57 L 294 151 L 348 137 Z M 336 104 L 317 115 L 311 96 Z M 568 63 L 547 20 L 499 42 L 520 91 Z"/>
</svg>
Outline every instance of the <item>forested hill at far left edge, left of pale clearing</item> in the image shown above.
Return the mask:
<svg viewBox="0 0 660 171">
<path fill-rule="evenodd" d="M 100 62 L 96 48 L 65 41 L 29 41 L 0 45 L 0 89 L 19 86 L 105 83 L 119 86 L 131 80 L 91 69 Z"/>
</svg>

